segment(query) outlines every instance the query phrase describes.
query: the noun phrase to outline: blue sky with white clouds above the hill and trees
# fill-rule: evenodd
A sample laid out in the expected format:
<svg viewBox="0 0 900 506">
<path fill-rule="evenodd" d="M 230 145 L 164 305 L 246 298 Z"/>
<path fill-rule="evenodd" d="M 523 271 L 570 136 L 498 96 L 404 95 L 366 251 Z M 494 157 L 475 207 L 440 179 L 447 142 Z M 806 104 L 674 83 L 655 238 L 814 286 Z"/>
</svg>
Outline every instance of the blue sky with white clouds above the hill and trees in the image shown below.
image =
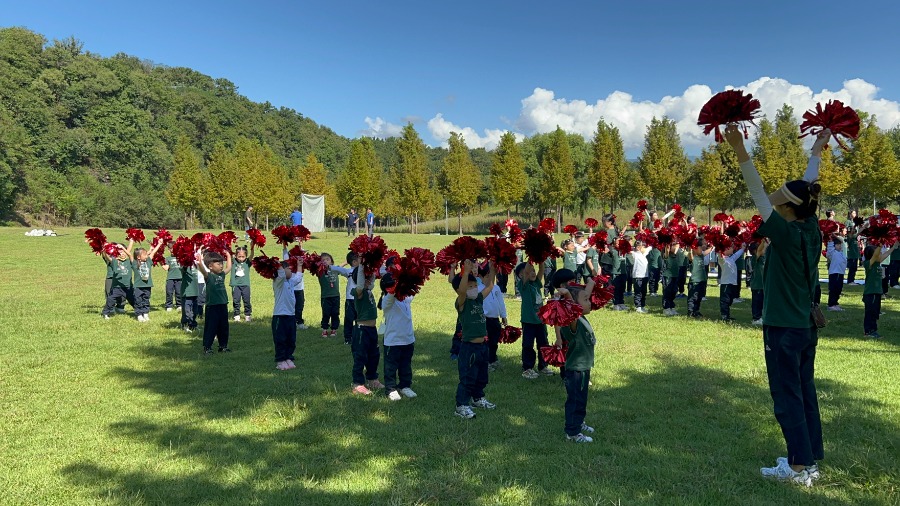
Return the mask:
<svg viewBox="0 0 900 506">
<path fill-rule="evenodd" d="M 505 129 L 589 136 L 603 117 L 634 152 L 666 114 L 697 151 L 696 112 L 726 86 L 770 114 L 841 98 L 900 124 L 900 4 L 855 5 L 4 0 L 0 25 L 224 77 L 348 137 L 412 120 L 429 144 L 455 130 L 490 148 Z"/>
</svg>

